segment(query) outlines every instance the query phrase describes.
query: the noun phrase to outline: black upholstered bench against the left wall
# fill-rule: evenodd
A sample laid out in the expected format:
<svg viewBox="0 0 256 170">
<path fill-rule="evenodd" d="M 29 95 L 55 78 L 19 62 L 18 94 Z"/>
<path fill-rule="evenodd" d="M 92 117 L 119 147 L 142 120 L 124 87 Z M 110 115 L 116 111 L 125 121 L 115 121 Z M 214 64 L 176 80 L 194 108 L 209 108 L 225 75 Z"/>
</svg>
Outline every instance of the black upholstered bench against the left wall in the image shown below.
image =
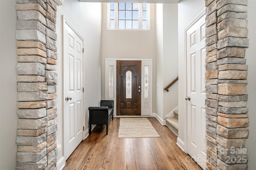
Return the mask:
<svg viewBox="0 0 256 170">
<path fill-rule="evenodd" d="M 108 122 L 114 118 L 114 100 L 101 100 L 100 106 L 89 107 L 89 135 L 92 133 L 92 125 L 106 125 L 108 135 Z"/>
</svg>

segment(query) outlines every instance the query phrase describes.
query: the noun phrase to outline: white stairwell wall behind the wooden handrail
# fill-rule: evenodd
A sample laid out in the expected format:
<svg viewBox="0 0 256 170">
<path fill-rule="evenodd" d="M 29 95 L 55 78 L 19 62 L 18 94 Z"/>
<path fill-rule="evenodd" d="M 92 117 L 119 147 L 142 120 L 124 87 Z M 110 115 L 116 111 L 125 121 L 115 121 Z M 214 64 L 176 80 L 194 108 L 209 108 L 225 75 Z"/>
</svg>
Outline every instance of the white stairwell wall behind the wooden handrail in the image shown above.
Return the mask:
<svg viewBox="0 0 256 170">
<path fill-rule="evenodd" d="M 178 4 L 163 4 L 164 61 L 163 61 L 163 117 L 178 106 L 178 82 L 163 90 L 178 76 Z"/>
</svg>

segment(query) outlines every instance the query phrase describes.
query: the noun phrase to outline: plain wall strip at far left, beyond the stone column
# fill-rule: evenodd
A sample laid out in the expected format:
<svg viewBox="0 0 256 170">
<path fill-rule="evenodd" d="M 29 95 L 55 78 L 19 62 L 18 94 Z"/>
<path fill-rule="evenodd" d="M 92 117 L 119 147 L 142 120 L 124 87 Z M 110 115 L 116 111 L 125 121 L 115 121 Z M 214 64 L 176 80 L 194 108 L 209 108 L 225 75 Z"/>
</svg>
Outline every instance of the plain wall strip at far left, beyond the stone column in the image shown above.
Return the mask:
<svg viewBox="0 0 256 170">
<path fill-rule="evenodd" d="M 16 1 L 0 1 L 0 169 L 16 169 Z"/>
</svg>

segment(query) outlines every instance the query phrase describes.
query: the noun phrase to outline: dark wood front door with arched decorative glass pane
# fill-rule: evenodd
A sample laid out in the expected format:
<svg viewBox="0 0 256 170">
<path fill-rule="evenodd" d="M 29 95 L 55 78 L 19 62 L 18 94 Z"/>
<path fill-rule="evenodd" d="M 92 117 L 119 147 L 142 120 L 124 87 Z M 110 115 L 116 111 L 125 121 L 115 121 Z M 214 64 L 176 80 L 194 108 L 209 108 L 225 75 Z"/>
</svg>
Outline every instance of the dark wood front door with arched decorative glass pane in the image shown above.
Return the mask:
<svg viewBox="0 0 256 170">
<path fill-rule="evenodd" d="M 141 115 L 141 61 L 116 61 L 116 113 Z"/>
</svg>

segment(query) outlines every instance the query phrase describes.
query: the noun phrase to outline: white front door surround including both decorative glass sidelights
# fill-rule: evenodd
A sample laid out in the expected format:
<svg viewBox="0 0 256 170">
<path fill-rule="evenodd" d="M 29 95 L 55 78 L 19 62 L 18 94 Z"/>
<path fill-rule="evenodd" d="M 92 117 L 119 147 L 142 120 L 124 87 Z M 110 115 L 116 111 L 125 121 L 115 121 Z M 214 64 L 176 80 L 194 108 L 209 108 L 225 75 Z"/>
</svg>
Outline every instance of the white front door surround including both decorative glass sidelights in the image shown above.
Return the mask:
<svg viewBox="0 0 256 170">
<path fill-rule="evenodd" d="M 105 60 L 105 99 L 114 100 L 116 115 L 116 61 L 141 61 L 141 115 L 152 116 L 152 59 L 106 59 Z M 148 83 L 145 83 L 148 82 Z M 146 91 L 148 90 L 148 91 Z M 146 92 L 146 95 L 145 95 Z"/>
</svg>

